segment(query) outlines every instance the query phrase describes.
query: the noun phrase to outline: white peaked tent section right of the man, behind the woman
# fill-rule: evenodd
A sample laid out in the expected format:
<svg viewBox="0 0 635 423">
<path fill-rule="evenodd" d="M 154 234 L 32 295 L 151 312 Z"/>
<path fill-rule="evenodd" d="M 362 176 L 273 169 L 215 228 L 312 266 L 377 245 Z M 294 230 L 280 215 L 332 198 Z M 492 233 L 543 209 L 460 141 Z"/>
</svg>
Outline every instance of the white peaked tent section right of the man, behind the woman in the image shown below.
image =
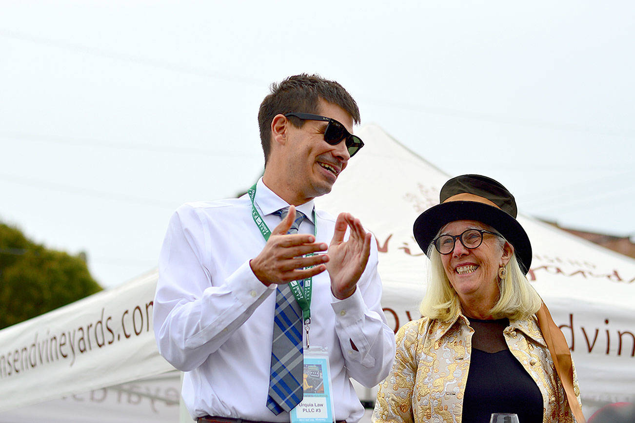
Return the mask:
<svg viewBox="0 0 635 423">
<path fill-rule="evenodd" d="M 413 222 L 438 204 L 450 175 L 377 126 L 364 127 L 360 136 L 368 148 L 349 162 L 333 191 L 316 201 L 329 211 L 351 212 L 377 237 L 384 251 L 382 306 L 399 327 L 420 317 L 426 280 L 427 259 L 413 238 Z M 518 219 L 533 249 L 528 278 L 572 348 L 585 409 L 635 401 L 635 260 L 522 214 Z"/>
</svg>

